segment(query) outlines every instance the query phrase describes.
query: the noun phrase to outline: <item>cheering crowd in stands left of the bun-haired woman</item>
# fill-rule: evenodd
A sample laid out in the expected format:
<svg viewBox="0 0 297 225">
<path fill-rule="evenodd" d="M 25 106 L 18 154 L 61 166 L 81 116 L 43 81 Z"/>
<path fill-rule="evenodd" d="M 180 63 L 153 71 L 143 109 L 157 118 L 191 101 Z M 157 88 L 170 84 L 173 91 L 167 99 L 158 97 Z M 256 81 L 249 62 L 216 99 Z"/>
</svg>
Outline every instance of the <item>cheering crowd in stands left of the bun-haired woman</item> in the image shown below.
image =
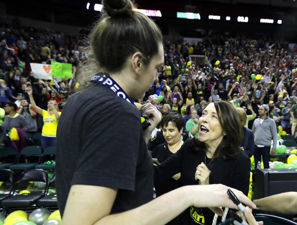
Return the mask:
<svg viewBox="0 0 297 225">
<path fill-rule="evenodd" d="M 28 123 L 18 124 L 26 127 L 27 133 L 42 132 L 42 138 L 46 139 L 41 140 L 42 147 L 55 145 L 59 114 L 70 95 L 78 90 L 79 83 L 75 85 L 73 79 L 67 78 L 37 79 L 30 63 L 71 63 L 74 76 L 85 57 L 86 39 L 33 27 L 15 29 L 3 25 L 0 41 L 0 123 L 5 125 L 1 144 L 10 145 L 7 135 L 14 125 L 11 121 L 17 118 Z"/>
</svg>

